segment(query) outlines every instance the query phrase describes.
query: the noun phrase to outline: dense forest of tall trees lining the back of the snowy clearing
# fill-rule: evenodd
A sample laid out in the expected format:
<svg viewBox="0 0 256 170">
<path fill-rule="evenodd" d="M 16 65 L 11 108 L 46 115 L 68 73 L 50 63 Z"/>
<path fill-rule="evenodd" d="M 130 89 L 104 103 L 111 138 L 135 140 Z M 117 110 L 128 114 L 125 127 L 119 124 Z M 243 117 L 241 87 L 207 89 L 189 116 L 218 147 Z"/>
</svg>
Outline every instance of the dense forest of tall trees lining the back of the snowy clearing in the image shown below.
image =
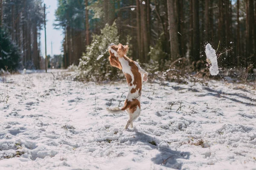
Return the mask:
<svg viewBox="0 0 256 170">
<path fill-rule="evenodd" d="M 1 68 L 44 69 L 43 0 L 1 0 L 0 9 Z M 58 0 L 55 17 L 64 35 L 62 68 L 97 67 L 106 77 L 108 66 L 89 67 L 99 54 L 108 55 L 111 42 L 128 44 L 129 57 L 151 71 L 174 65 L 200 71 L 207 43 L 217 50 L 221 68 L 256 67 L 255 0 Z"/>
</svg>

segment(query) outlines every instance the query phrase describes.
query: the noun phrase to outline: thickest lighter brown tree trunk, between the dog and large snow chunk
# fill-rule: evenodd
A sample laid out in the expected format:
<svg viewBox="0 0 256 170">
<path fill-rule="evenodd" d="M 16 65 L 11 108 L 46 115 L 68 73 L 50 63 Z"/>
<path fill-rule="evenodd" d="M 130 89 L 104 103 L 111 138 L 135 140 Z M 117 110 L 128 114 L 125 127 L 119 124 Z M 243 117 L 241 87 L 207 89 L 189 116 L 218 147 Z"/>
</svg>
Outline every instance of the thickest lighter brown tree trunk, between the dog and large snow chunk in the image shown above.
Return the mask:
<svg viewBox="0 0 256 170">
<path fill-rule="evenodd" d="M 179 58 L 177 0 L 167 0 L 172 61 Z"/>
</svg>

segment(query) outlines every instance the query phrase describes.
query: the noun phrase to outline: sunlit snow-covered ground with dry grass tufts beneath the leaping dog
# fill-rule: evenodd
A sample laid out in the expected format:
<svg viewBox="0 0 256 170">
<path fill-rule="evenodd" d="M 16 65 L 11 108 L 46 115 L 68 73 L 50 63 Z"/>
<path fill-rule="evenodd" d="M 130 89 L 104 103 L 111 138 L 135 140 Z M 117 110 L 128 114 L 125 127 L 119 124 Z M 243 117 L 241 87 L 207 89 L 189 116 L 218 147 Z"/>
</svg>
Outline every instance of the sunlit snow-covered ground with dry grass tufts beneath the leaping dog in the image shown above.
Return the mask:
<svg viewBox="0 0 256 170">
<path fill-rule="evenodd" d="M 255 88 L 143 83 L 140 117 L 124 130 L 128 115 L 105 108 L 123 105 L 125 80 L 99 85 L 66 74 L 1 77 L 1 170 L 256 169 Z"/>
</svg>

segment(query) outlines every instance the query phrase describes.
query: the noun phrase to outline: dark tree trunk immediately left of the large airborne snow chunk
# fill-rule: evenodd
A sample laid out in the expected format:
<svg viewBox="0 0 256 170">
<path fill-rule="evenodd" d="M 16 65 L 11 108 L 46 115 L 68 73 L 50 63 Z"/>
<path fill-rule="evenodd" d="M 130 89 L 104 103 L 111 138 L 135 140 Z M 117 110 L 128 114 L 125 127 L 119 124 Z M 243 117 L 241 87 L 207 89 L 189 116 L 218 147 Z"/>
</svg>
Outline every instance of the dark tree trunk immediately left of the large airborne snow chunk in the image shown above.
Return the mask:
<svg viewBox="0 0 256 170">
<path fill-rule="evenodd" d="M 200 60 L 199 1 L 193 0 L 193 57 Z"/>
</svg>

